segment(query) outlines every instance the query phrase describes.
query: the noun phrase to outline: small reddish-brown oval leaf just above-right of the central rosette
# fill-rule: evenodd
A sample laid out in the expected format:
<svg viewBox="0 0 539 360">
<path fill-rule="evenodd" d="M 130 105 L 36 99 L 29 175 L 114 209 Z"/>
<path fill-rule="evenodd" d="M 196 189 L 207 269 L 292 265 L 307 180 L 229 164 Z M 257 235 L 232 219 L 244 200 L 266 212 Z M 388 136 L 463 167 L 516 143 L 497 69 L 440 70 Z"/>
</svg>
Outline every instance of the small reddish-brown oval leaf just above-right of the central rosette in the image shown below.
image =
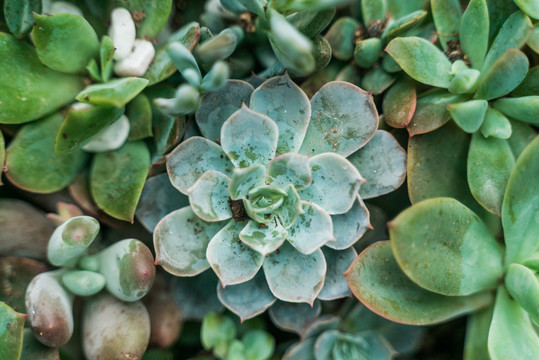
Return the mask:
<svg viewBox="0 0 539 360">
<path fill-rule="evenodd" d="M 387 91 L 382 108 L 384 122 L 396 128 L 406 127 L 412 120 L 416 108 L 415 85 L 408 79 L 398 80 Z"/>
</svg>

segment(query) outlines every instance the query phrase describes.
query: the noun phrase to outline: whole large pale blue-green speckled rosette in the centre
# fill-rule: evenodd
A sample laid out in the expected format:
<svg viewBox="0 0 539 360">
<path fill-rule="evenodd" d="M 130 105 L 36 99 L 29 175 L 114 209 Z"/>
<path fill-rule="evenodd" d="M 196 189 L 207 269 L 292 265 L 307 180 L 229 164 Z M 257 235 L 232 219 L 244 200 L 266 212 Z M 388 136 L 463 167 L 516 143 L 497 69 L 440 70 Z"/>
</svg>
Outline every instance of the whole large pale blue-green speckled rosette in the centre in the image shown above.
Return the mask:
<svg viewBox="0 0 539 360">
<path fill-rule="evenodd" d="M 189 138 L 167 160 L 190 206 L 157 224 L 157 263 L 177 276 L 211 267 L 220 300 L 242 318 L 276 298 L 312 304 L 347 296 L 340 274 L 370 226 L 358 169 L 369 180 L 365 197 L 392 191 L 405 175 L 404 151 L 376 131 L 372 96 L 332 82 L 309 102 L 287 75 L 254 91 L 231 80 L 203 97 L 197 123 L 206 138 Z M 260 268 L 266 281 L 256 276 Z M 256 306 L 240 309 L 253 294 Z"/>
</svg>

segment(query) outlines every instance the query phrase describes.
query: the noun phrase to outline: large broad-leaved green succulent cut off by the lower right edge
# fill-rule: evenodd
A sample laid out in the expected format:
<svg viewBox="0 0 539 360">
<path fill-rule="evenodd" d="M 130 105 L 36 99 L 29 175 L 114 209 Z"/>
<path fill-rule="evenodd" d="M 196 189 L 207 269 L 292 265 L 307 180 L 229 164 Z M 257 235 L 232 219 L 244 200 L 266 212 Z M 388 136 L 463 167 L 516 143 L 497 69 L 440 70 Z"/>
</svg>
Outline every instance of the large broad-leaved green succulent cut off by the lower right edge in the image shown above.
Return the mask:
<svg viewBox="0 0 539 360">
<path fill-rule="evenodd" d="M 425 200 L 390 223 L 390 242 L 360 254 L 346 274 L 352 291 L 378 314 L 402 323 L 433 324 L 472 313 L 465 358 L 479 358 L 487 348 L 492 359 L 538 357 L 532 325 L 539 315 L 538 176 L 536 137 L 505 188 L 505 248 L 460 202 Z"/>
</svg>

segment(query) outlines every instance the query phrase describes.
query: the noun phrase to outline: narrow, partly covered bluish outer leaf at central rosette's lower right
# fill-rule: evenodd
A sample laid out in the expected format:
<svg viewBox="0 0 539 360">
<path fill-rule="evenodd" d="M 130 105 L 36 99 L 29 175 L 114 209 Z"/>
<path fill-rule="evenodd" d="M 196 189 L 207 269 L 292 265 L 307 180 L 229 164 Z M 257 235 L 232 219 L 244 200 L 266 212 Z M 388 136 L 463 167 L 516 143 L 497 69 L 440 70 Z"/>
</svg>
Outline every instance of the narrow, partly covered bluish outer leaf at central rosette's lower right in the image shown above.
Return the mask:
<svg viewBox="0 0 539 360">
<path fill-rule="evenodd" d="M 322 248 L 327 263 L 326 281 L 318 298 L 320 300 L 335 300 L 352 295 L 343 274 L 357 257 L 353 247 L 345 250 Z"/>
</svg>

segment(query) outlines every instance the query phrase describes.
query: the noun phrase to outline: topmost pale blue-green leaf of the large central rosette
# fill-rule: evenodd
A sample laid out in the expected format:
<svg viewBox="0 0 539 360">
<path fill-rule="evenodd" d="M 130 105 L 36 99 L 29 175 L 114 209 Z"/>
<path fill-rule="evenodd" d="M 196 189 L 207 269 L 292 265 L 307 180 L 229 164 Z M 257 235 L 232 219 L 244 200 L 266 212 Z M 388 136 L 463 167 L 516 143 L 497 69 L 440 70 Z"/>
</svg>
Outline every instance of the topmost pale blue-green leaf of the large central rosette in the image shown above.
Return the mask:
<svg viewBox="0 0 539 360">
<path fill-rule="evenodd" d="M 250 108 L 267 115 L 277 124 L 277 154 L 299 150 L 311 118 L 311 104 L 288 74 L 273 77 L 260 85 L 251 95 Z"/>
</svg>

